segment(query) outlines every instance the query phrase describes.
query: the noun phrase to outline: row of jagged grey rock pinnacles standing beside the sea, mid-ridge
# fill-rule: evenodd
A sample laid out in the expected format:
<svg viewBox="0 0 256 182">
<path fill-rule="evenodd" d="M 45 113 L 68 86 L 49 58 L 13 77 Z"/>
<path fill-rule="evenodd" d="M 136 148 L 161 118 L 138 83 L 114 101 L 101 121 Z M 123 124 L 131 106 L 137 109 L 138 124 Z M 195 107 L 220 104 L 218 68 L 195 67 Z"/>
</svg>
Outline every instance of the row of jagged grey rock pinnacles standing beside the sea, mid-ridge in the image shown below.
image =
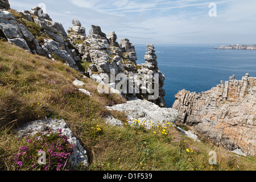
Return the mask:
<svg viewBox="0 0 256 182">
<path fill-rule="evenodd" d="M 73 20 L 73 22 L 79 22 L 78 20 Z M 117 35 L 112 31 L 109 32 L 108 39 L 106 34 L 101 31 L 99 26 L 92 25 L 88 37 L 81 35 L 79 31 L 81 23 L 74 24 L 73 26 L 79 26 L 77 28 L 69 28 L 69 39 L 71 44 L 76 48 L 77 52 L 81 56 L 81 61 L 91 63 L 87 70 L 88 75 L 94 81 L 102 82 L 106 81 L 109 87 L 114 90 L 114 93 L 118 93 L 127 100 L 141 98 L 148 100 L 150 96 L 149 88 L 146 88 L 146 92 L 135 92 L 132 93 L 121 93 L 115 89 L 119 80 L 110 80 L 111 70 L 114 70 L 114 75 L 123 73 L 126 75 L 127 82 L 133 82 L 135 84 L 142 85 L 147 84 L 148 77 L 152 77 L 153 83 L 150 86 L 154 86 L 156 81 L 154 80 L 154 74 L 159 75 L 159 97 L 155 100 L 151 100 L 155 104 L 166 107 L 166 102 L 164 101 L 164 96 L 166 95 L 165 90 L 162 89 L 164 85 L 164 75 L 158 71 L 158 64 L 156 61 L 157 56 L 155 55 L 155 48 L 152 45 L 147 45 L 147 52 L 145 55 L 145 64 L 138 65 L 136 63 L 137 55 L 135 52 L 135 47 L 130 43 L 129 39 L 121 39 L 121 43 L 117 43 Z M 86 70 L 85 70 L 86 72 Z M 146 82 L 141 80 L 129 80 L 131 74 L 137 74 L 138 77 L 144 77 L 147 75 Z M 140 88 L 141 90 L 142 88 Z M 127 85 L 127 90 L 129 86 Z"/>
</svg>

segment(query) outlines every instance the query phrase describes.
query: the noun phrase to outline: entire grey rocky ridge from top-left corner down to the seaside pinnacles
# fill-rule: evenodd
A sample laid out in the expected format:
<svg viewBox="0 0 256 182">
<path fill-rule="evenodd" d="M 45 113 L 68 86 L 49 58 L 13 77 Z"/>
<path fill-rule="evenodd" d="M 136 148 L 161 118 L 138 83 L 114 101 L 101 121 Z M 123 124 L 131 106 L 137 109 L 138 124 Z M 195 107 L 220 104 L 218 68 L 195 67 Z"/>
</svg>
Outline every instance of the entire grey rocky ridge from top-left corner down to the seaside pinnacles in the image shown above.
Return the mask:
<svg viewBox="0 0 256 182">
<path fill-rule="evenodd" d="M 166 92 L 162 89 L 165 78 L 158 69 L 154 46 L 147 45 L 145 64 L 138 65 L 133 44 L 125 38 L 117 43 L 117 35 L 114 31 L 109 32 L 107 38 L 101 31 L 101 27 L 92 25 L 89 35 L 86 36 L 85 28 L 79 20 L 74 19 L 73 27 L 68 29 L 67 34 L 62 24 L 53 22 L 40 7 L 34 7 L 31 11 L 16 11 L 10 9 L 8 1 L 1 1 L 0 9 L 2 9 L 0 10 L 0 39 L 3 41 L 15 44 L 33 54 L 46 56 L 52 60 L 62 60 L 97 82 L 105 81 L 106 77 L 110 77 L 112 69 L 115 75 L 123 73 L 126 75 L 127 82 L 133 82 L 126 88 L 130 92 L 120 93 L 115 89 L 120 80 L 109 80 L 105 84 L 109 84 L 112 90 L 127 100 L 141 98 L 150 100 L 160 107 L 166 107 L 164 101 Z M 154 80 L 155 73 L 159 75 L 159 81 Z M 131 80 L 129 74 L 136 74 L 136 78 L 147 75 L 147 79 L 149 77 L 152 84 L 144 88 L 145 81 Z M 137 90 L 134 89 L 135 85 L 138 85 Z M 154 85 L 159 87 L 158 97 L 151 100 L 150 88 Z"/>
</svg>

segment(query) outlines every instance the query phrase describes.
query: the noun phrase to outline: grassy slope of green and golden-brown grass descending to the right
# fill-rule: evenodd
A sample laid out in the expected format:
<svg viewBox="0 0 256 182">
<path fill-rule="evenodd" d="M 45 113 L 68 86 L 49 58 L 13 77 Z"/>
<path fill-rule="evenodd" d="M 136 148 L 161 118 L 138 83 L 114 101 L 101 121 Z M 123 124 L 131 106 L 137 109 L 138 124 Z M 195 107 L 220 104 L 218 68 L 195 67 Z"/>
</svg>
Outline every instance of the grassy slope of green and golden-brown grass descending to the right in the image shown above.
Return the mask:
<svg viewBox="0 0 256 182">
<path fill-rule="evenodd" d="M 92 97 L 77 91 L 72 84 L 75 78 L 85 82 L 80 88 L 88 90 Z M 67 121 L 88 150 L 89 170 L 256 169 L 255 157 L 237 158 L 220 147 L 194 142 L 172 125 L 167 126 L 167 136 L 159 133 L 159 128 L 106 125 L 102 118 L 109 111 L 104 106 L 123 102 L 115 94 L 99 94 L 96 82 L 82 78 L 61 61 L 31 55 L 0 42 L 0 169 L 14 169 L 8 167 L 13 166 L 13 162 L 5 159 L 20 147 L 12 129 L 5 129 L 6 124 L 16 127 L 45 117 Z M 126 121 L 121 112 L 111 114 Z M 102 130 L 93 133 L 97 125 Z M 208 153 L 212 150 L 217 152 L 215 166 L 208 163 Z"/>
</svg>

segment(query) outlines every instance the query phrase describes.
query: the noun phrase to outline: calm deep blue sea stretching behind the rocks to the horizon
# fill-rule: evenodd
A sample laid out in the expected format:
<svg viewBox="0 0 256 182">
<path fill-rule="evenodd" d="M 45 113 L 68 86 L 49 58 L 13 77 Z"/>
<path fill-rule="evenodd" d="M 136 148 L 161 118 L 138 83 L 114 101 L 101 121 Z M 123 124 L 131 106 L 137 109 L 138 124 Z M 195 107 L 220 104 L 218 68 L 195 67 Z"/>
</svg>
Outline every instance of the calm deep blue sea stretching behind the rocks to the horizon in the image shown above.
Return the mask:
<svg viewBox="0 0 256 182">
<path fill-rule="evenodd" d="M 237 80 L 250 73 L 256 77 L 256 51 L 214 49 L 214 45 L 154 45 L 159 70 L 164 74 L 167 107 L 172 107 L 175 94 L 186 89 L 204 92 L 229 80 Z M 228 45 L 225 45 L 228 46 Z M 144 63 L 146 45 L 135 44 L 137 64 Z"/>
</svg>

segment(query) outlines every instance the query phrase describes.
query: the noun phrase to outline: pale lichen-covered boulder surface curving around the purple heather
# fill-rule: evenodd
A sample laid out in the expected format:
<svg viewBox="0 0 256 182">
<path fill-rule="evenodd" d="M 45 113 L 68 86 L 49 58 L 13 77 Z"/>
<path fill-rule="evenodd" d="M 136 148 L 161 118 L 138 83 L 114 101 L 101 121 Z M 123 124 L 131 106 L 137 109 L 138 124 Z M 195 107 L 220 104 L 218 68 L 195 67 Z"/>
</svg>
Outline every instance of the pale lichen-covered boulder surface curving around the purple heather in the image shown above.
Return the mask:
<svg viewBox="0 0 256 182">
<path fill-rule="evenodd" d="M 79 166 L 80 163 L 84 166 L 88 166 L 87 152 L 63 119 L 46 119 L 28 122 L 20 127 L 17 133 L 19 135 L 35 135 L 36 133 L 47 133 L 46 129 L 47 131 L 51 129 L 53 132 L 57 132 L 57 130 L 61 129 L 61 133 L 69 138 L 68 142 L 75 145 L 73 148 L 74 152 L 70 156 L 69 162 L 75 167 Z"/>
</svg>

